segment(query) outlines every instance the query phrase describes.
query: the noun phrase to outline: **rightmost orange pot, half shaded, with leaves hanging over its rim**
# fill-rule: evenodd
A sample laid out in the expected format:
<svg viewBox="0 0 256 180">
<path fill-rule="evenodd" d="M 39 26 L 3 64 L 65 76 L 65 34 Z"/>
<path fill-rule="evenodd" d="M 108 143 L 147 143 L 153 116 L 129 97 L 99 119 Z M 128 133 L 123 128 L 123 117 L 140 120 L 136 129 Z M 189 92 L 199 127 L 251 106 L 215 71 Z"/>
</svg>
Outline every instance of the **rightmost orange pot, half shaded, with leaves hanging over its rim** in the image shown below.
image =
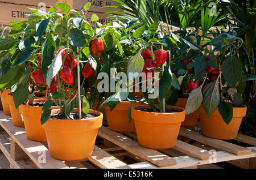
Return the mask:
<svg viewBox="0 0 256 180">
<path fill-rule="evenodd" d="M 221 114 L 218 112 L 218 108 L 208 118 L 204 106 L 200 106 L 199 115 L 202 134 L 209 138 L 223 140 L 236 138 L 242 118 L 246 115 L 246 110 L 246 106 L 243 106 L 242 108 L 233 108 L 233 118 L 229 125 L 227 125 L 221 117 Z"/>
</svg>

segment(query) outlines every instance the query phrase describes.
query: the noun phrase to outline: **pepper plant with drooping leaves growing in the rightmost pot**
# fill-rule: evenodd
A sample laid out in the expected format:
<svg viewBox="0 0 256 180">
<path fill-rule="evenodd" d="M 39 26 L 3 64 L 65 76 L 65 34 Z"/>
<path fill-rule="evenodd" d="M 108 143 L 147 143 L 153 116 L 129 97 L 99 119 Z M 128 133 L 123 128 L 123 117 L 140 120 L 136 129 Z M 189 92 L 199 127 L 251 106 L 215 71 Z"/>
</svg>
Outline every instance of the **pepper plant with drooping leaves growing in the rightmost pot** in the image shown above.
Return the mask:
<svg viewBox="0 0 256 180">
<path fill-rule="evenodd" d="M 229 124 L 233 106 L 242 106 L 241 93 L 245 89 L 242 63 L 237 56 L 242 43 L 241 38 L 228 33 L 221 33 L 208 42 L 215 48 L 209 53 L 199 54 L 195 60 L 193 67 L 203 83 L 190 93 L 186 114 L 195 112 L 203 103 L 208 117 L 218 107 L 222 118 Z M 233 91 L 233 97 L 229 91 Z"/>
</svg>

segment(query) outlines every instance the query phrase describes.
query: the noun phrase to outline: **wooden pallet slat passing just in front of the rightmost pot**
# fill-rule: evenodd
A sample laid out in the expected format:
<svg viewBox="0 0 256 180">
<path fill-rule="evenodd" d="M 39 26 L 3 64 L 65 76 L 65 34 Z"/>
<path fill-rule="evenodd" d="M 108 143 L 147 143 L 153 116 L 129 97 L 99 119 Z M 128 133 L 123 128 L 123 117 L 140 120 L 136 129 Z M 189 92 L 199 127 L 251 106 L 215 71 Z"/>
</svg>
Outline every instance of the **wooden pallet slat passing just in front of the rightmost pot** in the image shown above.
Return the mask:
<svg viewBox="0 0 256 180">
<path fill-rule="evenodd" d="M 208 138 L 204 135 L 199 134 L 196 131 L 192 131 L 184 127 L 180 128 L 179 134 L 181 136 L 185 136 L 198 142 L 208 144 L 212 147 L 220 148 L 224 151 L 234 153 L 235 155 L 247 155 L 251 153 L 250 149 L 241 147 L 236 144 L 225 142 L 224 140 Z"/>
</svg>

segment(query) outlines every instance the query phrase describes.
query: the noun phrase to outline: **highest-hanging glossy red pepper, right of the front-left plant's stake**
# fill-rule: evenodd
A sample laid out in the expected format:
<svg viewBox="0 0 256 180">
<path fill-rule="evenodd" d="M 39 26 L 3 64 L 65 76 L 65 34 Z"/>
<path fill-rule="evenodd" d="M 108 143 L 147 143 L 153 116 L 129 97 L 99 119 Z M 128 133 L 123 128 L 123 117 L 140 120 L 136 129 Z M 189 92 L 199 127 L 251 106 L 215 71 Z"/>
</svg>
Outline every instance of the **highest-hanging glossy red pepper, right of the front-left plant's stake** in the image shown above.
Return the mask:
<svg viewBox="0 0 256 180">
<path fill-rule="evenodd" d="M 104 52 L 104 43 L 102 39 L 96 38 L 96 40 L 90 41 L 89 50 L 94 59 L 100 58 L 101 54 Z"/>
</svg>

